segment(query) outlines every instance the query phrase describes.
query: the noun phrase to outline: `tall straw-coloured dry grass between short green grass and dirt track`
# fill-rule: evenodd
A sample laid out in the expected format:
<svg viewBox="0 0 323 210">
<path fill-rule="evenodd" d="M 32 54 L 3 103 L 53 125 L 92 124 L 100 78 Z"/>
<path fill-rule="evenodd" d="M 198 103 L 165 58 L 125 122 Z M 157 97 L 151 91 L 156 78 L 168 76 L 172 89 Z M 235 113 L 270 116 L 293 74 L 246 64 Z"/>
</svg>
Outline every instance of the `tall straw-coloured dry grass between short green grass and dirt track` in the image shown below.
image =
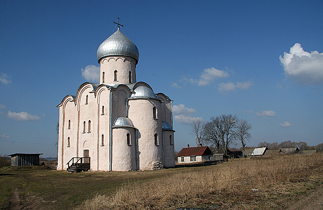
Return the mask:
<svg viewBox="0 0 323 210">
<path fill-rule="evenodd" d="M 257 201 L 265 204 L 271 190 L 278 191 L 278 195 L 288 194 L 288 185 L 295 186 L 316 173 L 322 174 L 322 166 L 323 154 L 317 153 L 178 168 L 177 173 L 165 173 L 167 176 L 160 173 L 160 177 L 149 182 L 126 183 L 115 194 L 97 195 L 77 209 L 160 210 L 201 206 L 257 209 Z"/>
</svg>

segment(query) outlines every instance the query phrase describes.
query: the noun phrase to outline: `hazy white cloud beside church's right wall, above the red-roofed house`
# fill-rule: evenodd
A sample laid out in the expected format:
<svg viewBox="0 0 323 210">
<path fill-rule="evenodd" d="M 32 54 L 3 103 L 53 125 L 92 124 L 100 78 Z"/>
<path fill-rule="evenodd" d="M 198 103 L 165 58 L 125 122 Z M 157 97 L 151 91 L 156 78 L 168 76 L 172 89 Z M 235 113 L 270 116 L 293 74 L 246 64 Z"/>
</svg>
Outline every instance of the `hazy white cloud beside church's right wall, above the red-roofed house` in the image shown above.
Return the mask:
<svg viewBox="0 0 323 210">
<path fill-rule="evenodd" d="M 172 107 L 174 121 L 181 124 L 191 124 L 193 120 L 203 120 L 201 117 L 193 117 L 192 114 L 196 113 L 193 108 L 187 108 L 184 104 L 174 105 Z"/>
</svg>

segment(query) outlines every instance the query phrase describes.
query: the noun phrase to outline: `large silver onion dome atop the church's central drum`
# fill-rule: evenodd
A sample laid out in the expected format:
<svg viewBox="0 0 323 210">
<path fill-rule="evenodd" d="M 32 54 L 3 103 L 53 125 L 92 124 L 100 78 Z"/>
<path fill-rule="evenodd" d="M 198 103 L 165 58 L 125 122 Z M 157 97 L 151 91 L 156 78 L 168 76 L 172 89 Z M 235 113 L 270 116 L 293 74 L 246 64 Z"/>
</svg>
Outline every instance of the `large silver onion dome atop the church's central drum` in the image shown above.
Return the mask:
<svg viewBox="0 0 323 210">
<path fill-rule="evenodd" d="M 139 51 L 137 46 L 126 35 L 117 30 L 100 44 L 96 56 L 99 63 L 106 56 L 128 56 L 138 63 Z"/>
</svg>

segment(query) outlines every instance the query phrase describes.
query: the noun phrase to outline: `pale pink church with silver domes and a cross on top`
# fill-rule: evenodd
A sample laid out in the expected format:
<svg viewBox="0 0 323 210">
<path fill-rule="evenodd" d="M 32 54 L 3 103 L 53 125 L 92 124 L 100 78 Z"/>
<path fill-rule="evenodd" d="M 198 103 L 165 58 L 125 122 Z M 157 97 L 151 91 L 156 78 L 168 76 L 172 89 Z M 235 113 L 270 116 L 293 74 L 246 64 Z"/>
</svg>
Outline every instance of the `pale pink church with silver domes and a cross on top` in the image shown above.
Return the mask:
<svg viewBox="0 0 323 210">
<path fill-rule="evenodd" d="M 175 165 L 172 100 L 137 82 L 139 51 L 119 25 L 97 50 L 100 83 L 84 82 L 57 105 L 57 170 L 77 163 L 93 171 Z"/>
</svg>

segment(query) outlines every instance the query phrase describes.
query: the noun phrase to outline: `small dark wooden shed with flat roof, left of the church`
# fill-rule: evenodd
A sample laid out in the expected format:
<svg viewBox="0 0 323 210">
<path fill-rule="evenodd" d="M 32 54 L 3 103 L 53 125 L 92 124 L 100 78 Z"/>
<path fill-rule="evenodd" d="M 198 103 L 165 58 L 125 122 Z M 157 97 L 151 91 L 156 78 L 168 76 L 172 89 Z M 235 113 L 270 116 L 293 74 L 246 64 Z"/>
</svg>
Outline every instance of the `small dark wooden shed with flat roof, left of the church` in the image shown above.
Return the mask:
<svg viewBox="0 0 323 210">
<path fill-rule="evenodd" d="M 11 156 L 12 166 L 26 166 L 26 165 L 39 165 L 39 155 L 43 153 L 14 153 L 9 154 Z"/>
</svg>

